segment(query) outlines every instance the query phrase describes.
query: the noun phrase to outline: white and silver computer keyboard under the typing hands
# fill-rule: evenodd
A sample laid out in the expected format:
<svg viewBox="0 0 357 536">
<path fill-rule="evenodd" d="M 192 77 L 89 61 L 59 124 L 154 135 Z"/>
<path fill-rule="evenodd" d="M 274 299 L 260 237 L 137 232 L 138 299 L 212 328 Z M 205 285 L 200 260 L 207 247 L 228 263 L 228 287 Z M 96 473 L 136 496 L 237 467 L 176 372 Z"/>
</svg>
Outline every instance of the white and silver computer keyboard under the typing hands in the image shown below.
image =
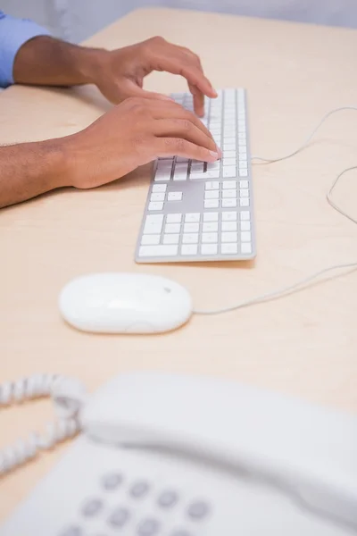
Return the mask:
<svg viewBox="0 0 357 536">
<path fill-rule="evenodd" d="M 223 156 L 203 163 L 180 157 L 154 165 L 137 240 L 137 263 L 247 260 L 256 255 L 245 90 L 205 99 L 203 123 Z M 172 97 L 193 110 L 189 93 Z"/>
</svg>

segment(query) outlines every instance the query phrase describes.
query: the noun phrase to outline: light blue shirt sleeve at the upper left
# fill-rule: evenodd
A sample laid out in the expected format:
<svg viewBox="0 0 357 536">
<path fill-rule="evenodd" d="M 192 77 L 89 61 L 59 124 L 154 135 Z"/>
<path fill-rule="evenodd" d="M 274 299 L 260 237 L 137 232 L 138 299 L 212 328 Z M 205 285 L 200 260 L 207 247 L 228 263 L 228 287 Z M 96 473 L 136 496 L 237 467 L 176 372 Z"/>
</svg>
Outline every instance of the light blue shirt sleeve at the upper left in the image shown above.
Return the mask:
<svg viewBox="0 0 357 536">
<path fill-rule="evenodd" d="M 0 11 L 0 88 L 13 84 L 13 63 L 21 46 L 29 39 L 48 35 L 50 32 L 36 22 L 15 19 Z"/>
</svg>

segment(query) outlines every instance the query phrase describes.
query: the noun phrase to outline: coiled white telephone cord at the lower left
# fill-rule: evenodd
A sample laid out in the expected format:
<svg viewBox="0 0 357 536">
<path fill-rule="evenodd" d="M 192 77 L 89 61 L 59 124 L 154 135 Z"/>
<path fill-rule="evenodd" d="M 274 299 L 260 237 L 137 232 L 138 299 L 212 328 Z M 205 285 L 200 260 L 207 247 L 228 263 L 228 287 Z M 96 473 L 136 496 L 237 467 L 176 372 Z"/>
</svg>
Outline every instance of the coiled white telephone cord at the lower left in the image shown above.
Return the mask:
<svg viewBox="0 0 357 536">
<path fill-rule="evenodd" d="M 0 478 L 79 431 L 77 416 L 86 399 L 86 391 L 79 381 L 56 374 L 34 374 L 0 385 L 0 408 L 44 397 L 53 398 L 58 420 L 46 425 L 45 434 L 32 432 L 26 440 L 0 450 Z"/>
</svg>

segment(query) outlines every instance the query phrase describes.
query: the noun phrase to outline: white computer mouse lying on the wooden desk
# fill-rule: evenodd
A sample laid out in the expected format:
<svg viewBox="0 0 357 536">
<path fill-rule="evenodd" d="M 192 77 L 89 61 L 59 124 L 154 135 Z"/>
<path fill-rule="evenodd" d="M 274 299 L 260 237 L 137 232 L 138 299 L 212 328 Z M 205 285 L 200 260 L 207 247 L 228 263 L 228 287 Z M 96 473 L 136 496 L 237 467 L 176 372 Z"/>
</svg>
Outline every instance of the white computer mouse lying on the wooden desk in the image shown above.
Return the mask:
<svg viewBox="0 0 357 536">
<path fill-rule="evenodd" d="M 142 273 L 91 273 L 70 281 L 59 297 L 64 320 L 95 333 L 159 333 L 190 318 L 192 298 L 175 281 Z"/>
</svg>

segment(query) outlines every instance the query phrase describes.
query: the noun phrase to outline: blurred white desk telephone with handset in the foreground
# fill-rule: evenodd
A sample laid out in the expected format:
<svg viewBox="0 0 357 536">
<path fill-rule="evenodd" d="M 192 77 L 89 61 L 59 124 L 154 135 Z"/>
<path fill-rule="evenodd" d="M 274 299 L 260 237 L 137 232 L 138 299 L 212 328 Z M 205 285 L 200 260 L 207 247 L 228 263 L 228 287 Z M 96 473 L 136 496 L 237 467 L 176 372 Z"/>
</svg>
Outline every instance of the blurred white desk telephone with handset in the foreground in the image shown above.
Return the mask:
<svg viewBox="0 0 357 536">
<path fill-rule="evenodd" d="M 0 536 L 348 536 L 357 418 L 233 381 L 124 373 Z"/>
</svg>

